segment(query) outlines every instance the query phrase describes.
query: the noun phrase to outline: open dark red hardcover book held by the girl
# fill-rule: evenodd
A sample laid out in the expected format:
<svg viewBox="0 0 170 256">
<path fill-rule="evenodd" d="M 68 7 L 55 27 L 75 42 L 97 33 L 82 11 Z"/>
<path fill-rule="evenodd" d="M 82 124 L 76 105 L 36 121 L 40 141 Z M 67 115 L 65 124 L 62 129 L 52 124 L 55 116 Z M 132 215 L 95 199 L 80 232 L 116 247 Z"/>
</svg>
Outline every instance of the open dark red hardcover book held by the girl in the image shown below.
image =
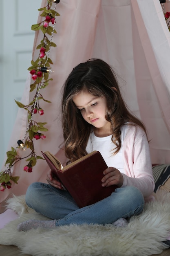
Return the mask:
<svg viewBox="0 0 170 256">
<path fill-rule="evenodd" d="M 94 204 L 115 191 L 117 186 L 102 186 L 103 171 L 108 168 L 99 151 L 93 151 L 84 157 L 62 166 L 51 152 L 42 152 L 53 175 L 72 195 L 77 205 L 82 208 Z"/>
</svg>

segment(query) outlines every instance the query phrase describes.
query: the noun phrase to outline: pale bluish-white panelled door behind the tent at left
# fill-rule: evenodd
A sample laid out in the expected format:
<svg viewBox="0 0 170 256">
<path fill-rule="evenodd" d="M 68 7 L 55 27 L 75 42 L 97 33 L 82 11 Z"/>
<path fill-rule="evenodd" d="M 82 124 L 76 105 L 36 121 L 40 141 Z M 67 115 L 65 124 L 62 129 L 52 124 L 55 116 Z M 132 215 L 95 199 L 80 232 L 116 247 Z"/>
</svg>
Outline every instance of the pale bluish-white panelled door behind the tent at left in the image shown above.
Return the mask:
<svg viewBox="0 0 170 256">
<path fill-rule="evenodd" d="M 0 167 L 31 66 L 35 32 L 42 0 L 0 0 Z M 17 141 L 17 138 L 16 138 Z M 12 146 L 12 145 L 11 145 Z"/>
</svg>

